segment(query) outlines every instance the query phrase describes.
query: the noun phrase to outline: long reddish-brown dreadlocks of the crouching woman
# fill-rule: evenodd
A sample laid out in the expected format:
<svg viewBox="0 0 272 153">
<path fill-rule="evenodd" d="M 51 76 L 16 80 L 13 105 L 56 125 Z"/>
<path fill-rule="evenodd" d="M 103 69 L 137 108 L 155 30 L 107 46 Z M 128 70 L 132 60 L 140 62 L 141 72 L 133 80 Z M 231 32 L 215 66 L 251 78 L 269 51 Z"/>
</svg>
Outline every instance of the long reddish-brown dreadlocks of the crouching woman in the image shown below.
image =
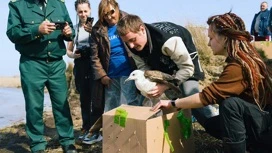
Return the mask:
<svg viewBox="0 0 272 153">
<path fill-rule="evenodd" d="M 245 30 L 244 21 L 234 13 L 215 15 L 207 24 L 219 35 L 224 35 L 229 58 L 242 65 L 243 77 L 249 85 L 255 103 L 263 110 L 272 93 L 272 71 L 260 57 L 250 41 L 251 35 Z"/>
</svg>

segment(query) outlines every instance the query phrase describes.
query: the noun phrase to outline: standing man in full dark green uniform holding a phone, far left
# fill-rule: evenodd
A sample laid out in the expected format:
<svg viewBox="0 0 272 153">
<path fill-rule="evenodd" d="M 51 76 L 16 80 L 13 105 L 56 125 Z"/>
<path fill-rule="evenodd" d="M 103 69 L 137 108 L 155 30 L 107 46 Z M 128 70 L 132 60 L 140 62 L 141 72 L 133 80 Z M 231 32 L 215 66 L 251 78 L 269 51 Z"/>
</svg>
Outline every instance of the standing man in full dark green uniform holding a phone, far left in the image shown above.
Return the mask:
<svg viewBox="0 0 272 153">
<path fill-rule="evenodd" d="M 32 152 L 44 152 L 43 104 L 46 86 L 52 102 L 59 142 L 66 153 L 76 153 L 73 122 L 67 101 L 66 53 L 63 40 L 74 38 L 64 0 L 11 0 L 7 36 L 20 52 L 20 74 L 25 97 L 26 132 Z M 64 25 L 55 24 L 63 21 Z"/>
</svg>

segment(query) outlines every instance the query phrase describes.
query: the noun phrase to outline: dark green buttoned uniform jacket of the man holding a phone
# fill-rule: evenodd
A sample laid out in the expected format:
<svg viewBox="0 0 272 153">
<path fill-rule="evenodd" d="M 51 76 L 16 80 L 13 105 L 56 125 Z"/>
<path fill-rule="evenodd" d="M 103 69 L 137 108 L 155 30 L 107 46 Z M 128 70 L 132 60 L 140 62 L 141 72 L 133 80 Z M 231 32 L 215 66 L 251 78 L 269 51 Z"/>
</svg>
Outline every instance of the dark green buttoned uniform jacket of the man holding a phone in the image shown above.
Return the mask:
<svg viewBox="0 0 272 153">
<path fill-rule="evenodd" d="M 46 15 L 36 4 L 36 0 L 11 0 L 9 9 L 6 34 L 22 55 L 59 58 L 66 54 L 63 40 L 73 40 L 75 32 L 64 0 L 48 0 Z M 67 21 L 73 31 L 72 37 L 64 37 L 61 30 L 55 30 L 49 35 L 40 34 L 39 25 L 44 20 Z"/>
</svg>

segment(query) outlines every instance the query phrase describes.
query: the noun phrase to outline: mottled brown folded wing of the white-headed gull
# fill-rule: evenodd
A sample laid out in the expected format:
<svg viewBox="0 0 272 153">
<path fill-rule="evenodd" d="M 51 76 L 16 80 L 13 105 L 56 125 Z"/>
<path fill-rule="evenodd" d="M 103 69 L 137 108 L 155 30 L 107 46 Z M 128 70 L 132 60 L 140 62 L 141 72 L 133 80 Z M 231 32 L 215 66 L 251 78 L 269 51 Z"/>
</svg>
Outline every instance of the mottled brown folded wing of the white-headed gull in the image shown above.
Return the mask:
<svg viewBox="0 0 272 153">
<path fill-rule="evenodd" d="M 176 83 L 178 82 L 178 79 L 167 73 L 163 73 L 157 70 L 146 70 L 144 72 L 144 76 L 152 82 L 167 85 L 170 89 L 172 89 L 174 92 L 178 94 L 181 93 L 181 90 L 174 84 L 175 82 Z"/>
</svg>

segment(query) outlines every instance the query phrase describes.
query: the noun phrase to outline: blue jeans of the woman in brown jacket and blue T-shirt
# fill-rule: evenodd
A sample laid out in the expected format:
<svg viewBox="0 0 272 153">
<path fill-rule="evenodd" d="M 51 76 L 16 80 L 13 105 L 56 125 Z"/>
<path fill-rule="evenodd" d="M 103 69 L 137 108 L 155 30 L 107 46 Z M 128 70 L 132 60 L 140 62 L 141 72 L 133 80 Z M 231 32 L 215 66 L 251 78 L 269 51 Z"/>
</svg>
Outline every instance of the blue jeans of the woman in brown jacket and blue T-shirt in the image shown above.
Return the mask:
<svg viewBox="0 0 272 153">
<path fill-rule="evenodd" d="M 137 93 L 135 82 L 125 83 L 127 78 L 127 76 L 112 78 L 109 87 L 105 88 L 105 112 L 119 107 L 121 104 L 141 105 L 142 96 Z"/>
</svg>

